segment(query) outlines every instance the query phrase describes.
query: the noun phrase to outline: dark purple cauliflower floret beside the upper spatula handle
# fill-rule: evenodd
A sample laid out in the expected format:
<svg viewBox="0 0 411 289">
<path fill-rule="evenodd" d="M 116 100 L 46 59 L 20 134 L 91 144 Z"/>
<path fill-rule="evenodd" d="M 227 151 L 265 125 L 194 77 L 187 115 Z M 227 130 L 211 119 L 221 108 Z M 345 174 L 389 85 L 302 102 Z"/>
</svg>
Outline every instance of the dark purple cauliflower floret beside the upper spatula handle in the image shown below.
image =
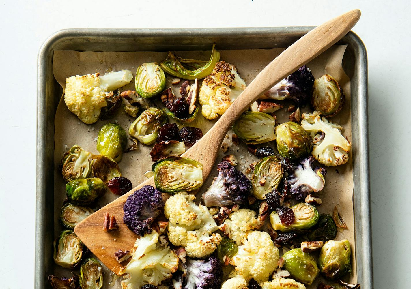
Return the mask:
<svg viewBox="0 0 411 289">
<path fill-rule="evenodd" d="M 300 106 L 309 99 L 313 84 L 314 76 L 304 65 L 270 88 L 260 99 L 291 99 Z"/>
</svg>

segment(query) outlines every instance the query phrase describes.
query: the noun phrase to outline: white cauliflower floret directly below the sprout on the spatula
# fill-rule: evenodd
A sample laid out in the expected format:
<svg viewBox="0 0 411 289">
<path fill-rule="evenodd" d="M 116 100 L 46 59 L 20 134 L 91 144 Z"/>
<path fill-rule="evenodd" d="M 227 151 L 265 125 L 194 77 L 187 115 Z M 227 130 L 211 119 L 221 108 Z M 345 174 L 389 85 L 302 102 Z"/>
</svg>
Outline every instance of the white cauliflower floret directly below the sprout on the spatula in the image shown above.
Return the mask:
<svg viewBox="0 0 411 289">
<path fill-rule="evenodd" d="M 167 235 L 173 245 L 182 246 L 189 257 L 204 257 L 215 251 L 221 242 L 218 229 L 206 206 L 194 204 L 195 196 L 175 194 L 164 205 L 164 216 L 169 219 Z"/>
</svg>

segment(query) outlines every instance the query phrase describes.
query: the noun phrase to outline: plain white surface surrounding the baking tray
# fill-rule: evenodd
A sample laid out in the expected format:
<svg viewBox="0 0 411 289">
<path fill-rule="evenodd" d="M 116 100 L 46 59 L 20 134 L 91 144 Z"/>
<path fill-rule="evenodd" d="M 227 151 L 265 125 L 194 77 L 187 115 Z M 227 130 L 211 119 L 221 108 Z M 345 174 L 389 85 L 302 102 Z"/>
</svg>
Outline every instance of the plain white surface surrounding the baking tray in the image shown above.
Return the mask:
<svg viewBox="0 0 411 289">
<path fill-rule="evenodd" d="M 37 52 L 64 28 L 319 25 L 350 9 L 369 60 L 369 137 L 375 288 L 409 288 L 409 0 L 0 2 L 0 287 L 34 279 Z M 180 7 L 180 8 L 178 8 Z M 358 264 L 361 266 L 361 264 Z"/>
</svg>

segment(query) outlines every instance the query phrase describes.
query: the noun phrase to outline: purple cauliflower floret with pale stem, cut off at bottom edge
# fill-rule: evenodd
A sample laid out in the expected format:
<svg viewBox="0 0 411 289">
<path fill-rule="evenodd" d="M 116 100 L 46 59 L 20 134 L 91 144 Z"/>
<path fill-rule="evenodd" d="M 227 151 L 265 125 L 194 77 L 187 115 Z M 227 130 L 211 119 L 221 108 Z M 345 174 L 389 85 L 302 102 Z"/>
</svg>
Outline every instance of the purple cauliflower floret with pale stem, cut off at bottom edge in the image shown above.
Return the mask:
<svg viewBox="0 0 411 289">
<path fill-rule="evenodd" d="M 221 287 L 222 269 L 217 257 L 210 257 L 208 261 L 187 258 L 180 264 L 181 271 L 173 278 L 175 289 L 219 289 Z"/>
</svg>

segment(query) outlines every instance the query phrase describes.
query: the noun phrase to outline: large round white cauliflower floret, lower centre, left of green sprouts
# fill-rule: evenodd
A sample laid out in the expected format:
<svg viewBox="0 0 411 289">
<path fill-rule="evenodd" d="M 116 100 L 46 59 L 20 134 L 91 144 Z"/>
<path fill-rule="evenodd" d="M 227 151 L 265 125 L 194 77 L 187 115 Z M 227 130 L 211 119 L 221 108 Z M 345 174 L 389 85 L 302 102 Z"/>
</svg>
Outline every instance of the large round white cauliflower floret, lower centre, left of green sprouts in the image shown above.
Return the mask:
<svg viewBox="0 0 411 289">
<path fill-rule="evenodd" d="M 238 252 L 230 260 L 238 275 L 245 280 L 254 278 L 257 282 L 268 281 L 268 277 L 277 268 L 279 251 L 266 232 L 249 232 L 244 245 L 238 246 Z"/>
</svg>

